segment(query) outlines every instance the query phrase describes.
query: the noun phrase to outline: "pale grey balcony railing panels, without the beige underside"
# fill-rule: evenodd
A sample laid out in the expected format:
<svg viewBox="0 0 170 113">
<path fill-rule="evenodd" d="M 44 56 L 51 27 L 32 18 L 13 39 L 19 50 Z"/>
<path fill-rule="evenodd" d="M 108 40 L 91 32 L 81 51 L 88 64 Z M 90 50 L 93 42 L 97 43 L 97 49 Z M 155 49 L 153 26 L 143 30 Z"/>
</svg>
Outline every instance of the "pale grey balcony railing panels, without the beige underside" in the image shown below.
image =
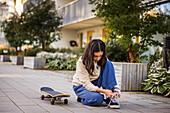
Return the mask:
<svg viewBox="0 0 170 113">
<path fill-rule="evenodd" d="M 95 5 L 89 4 L 88 0 L 77 0 L 59 8 L 58 12 L 63 16 L 62 26 L 94 18 L 93 8 Z"/>
</svg>

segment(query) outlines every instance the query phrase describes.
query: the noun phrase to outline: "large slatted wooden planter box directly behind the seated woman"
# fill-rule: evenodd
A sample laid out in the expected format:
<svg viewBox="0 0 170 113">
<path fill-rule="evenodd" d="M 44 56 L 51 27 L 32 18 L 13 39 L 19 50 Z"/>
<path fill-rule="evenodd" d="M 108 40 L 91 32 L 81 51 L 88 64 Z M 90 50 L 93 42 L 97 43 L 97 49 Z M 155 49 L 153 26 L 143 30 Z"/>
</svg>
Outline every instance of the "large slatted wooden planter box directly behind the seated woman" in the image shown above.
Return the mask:
<svg viewBox="0 0 170 113">
<path fill-rule="evenodd" d="M 118 86 L 122 91 L 142 91 L 147 78 L 147 64 L 112 62 Z"/>
</svg>

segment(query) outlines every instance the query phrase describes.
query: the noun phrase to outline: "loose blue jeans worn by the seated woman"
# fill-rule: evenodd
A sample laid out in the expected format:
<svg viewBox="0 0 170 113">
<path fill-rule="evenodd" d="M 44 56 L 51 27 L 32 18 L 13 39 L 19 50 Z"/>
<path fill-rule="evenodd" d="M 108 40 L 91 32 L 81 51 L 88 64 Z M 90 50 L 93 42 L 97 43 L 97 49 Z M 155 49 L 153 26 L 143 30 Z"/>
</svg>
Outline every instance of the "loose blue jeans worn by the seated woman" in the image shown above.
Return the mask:
<svg viewBox="0 0 170 113">
<path fill-rule="evenodd" d="M 92 84 L 102 87 L 103 89 L 113 90 L 117 85 L 115 78 L 115 70 L 110 61 L 106 62 L 104 71 L 101 70 L 99 78 L 92 81 Z M 103 103 L 104 95 L 99 92 L 87 90 L 83 85 L 73 86 L 75 94 L 81 98 L 81 103 L 84 105 L 100 105 Z"/>
</svg>

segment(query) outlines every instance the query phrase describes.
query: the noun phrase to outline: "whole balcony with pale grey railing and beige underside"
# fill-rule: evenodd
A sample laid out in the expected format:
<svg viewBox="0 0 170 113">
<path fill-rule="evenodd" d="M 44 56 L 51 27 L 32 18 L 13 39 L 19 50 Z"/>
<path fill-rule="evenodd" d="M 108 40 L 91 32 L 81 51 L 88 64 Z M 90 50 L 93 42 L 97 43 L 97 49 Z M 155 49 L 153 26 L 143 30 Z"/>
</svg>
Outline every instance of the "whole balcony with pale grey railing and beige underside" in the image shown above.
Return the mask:
<svg viewBox="0 0 170 113">
<path fill-rule="evenodd" d="M 58 8 L 59 14 L 63 16 L 63 24 L 60 27 L 81 29 L 102 24 L 101 20 L 91 12 L 95 5 L 88 2 L 88 0 L 76 0 Z"/>
</svg>

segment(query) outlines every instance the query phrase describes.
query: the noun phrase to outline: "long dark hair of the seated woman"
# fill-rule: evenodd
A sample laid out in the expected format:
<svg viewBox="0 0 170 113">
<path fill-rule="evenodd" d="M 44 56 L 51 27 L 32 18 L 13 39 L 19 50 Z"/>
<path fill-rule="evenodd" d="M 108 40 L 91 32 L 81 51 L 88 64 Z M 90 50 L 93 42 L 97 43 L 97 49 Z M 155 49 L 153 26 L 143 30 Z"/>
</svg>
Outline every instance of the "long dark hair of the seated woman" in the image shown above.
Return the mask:
<svg viewBox="0 0 170 113">
<path fill-rule="evenodd" d="M 97 64 L 101 66 L 101 69 L 103 70 L 107 61 L 105 43 L 103 41 L 101 41 L 100 39 L 91 40 L 83 53 L 82 61 L 90 75 L 93 75 L 94 71 L 94 52 L 100 51 L 103 52 L 103 55 L 102 58 L 97 62 Z"/>
</svg>

